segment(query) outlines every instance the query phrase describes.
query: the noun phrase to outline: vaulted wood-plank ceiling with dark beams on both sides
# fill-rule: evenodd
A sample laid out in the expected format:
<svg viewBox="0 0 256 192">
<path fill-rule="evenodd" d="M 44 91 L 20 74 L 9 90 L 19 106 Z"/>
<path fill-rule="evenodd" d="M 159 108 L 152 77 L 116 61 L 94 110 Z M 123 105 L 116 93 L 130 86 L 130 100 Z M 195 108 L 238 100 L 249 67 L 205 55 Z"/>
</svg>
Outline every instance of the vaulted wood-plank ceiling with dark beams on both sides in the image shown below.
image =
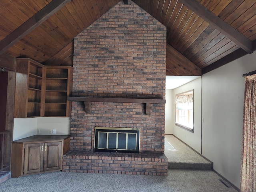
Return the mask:
<svg viewBox="0 0 256 192">
<path fill-rule="evenodd" d="M 255 0 L 132 1 L 167 28 L 166 75 L 201 75 L 256 50 Z M 72 66 L 74 37 L 118 2 L 1 0 L 0 55 Z"/>
</svg>

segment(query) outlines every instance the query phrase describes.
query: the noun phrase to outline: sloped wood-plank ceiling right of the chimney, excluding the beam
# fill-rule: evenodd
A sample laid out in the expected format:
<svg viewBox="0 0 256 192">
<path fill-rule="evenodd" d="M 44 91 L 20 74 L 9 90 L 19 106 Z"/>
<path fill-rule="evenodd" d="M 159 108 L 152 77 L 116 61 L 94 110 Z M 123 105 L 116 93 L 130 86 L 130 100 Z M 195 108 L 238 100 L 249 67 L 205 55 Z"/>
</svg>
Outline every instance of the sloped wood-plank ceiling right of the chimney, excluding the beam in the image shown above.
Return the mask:
<svg viewBox="0 0 256 192">
<path fill-rule="evenodd" d="M 196 14 L 191 14 L 191 10 L 187 10 L 178 0 L 154 0 L 147 3 L 145 0 L 133 1 L 162 22 L 167 27 L 167 43 L 192 62 L 195 61 L 194 64 L 200 68 L 238 48 L 232 42 L 223 43 L 225 35 L 214 30 Z M 250 40 L 256 39 L 256 12 L 253 11 L 256 9 L 255 1 L 197 1 Z"/>
</svg>

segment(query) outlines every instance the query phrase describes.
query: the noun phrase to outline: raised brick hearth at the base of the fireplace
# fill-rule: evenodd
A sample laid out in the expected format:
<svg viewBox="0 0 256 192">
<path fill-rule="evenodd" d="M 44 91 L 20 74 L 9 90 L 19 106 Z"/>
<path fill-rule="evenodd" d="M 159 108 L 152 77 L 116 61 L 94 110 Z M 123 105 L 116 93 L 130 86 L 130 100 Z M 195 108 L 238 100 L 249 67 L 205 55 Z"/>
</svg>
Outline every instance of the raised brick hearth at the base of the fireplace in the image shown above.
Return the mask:
<svg viewBox="0 0 256 192">
<path fill-rule="evenodd" d="M 70 151 L 64 155 L 64 172 L 167 176 L 163 154 Z"/>
</svg>

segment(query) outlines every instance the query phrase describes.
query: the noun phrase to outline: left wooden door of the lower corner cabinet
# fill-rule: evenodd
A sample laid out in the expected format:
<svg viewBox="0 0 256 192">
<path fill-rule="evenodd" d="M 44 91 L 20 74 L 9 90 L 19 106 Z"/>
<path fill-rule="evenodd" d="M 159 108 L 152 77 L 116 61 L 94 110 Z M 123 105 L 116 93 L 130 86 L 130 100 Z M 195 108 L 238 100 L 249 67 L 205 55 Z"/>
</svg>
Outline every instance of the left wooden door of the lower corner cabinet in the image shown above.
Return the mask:
<svg viewBox="0 0 256 192">
<path fill-rule="evenodd" d="M 44 143 L 25 144 L 24 174 L 42 172 L 43 161 Z"/>
</svg>

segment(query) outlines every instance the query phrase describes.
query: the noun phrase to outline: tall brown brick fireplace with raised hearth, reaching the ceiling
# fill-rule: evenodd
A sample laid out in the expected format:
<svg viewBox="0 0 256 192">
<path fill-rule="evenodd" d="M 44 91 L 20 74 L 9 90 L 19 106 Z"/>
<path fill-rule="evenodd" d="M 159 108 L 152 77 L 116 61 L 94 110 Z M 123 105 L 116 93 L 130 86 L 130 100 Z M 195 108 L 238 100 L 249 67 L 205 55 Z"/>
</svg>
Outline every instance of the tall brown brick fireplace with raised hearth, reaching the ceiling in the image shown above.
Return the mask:
<svg viewBox="0 0 256 192">
<path fill-rule="evenodd" d="M 72 102 L 63 171 L 167 175 L 165 105 L 132 100 L 164 100 L 165 76 L 166 27 L 130 0 L 78 34 L 72 97 L 111 100 Z M 139 153 L 95 152 L 95 127 L 139 129 Z"/>
</svg>

